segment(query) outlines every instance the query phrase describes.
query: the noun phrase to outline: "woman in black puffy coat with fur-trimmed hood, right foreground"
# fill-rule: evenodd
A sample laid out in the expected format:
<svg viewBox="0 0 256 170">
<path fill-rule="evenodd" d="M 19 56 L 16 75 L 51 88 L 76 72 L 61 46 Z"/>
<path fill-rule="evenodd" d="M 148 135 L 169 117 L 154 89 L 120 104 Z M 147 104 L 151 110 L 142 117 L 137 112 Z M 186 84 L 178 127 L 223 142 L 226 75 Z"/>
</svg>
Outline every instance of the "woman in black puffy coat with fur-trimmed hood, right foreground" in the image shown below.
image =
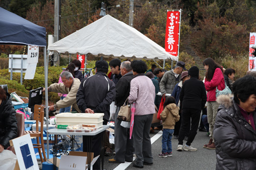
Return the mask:
<svg viewBox="0 0 256 170">
<path fill-rule="evenodd" d="M 233 95 L 220 95 L 214 126 L 216 169 L 256 169 L 256 78 L 233 84 Z"/>
</svg>

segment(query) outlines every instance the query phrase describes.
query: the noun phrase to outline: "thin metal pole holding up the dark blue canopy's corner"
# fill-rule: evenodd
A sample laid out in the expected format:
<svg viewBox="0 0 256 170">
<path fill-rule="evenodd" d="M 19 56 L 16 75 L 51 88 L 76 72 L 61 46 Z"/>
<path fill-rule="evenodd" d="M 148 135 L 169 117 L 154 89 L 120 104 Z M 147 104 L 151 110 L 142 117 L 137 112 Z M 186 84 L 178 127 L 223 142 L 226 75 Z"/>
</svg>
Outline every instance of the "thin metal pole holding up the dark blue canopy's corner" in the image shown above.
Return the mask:
<svg viewBox="0 0 256 170">
<path fill-rule="evenodd" d="M 47 55 L 49 58 L 49 55 Z M 44 46 L 44 65 L 45 65 L 45 94 L 46 94 L 46 137 L 47 137 L 47 160 L 49 160 L 49 134 L 48 134 L 48 122 L 49 122 L 49 114 L 48 114 L 48 59 L 46 57 L 46 46 Z M 45 151 L 42 151 L 45 152 Z"/>
</svg>

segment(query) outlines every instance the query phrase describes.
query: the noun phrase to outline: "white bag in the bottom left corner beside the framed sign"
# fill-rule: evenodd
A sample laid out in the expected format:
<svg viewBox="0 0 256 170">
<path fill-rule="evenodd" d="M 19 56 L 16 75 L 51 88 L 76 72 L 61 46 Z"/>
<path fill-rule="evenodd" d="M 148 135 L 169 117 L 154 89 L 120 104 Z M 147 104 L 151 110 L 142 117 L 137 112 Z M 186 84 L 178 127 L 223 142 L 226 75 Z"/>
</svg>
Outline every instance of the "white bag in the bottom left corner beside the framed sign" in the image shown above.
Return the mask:
<svg viewBox="0 0 256 170">
<path fill-rule="evenodd" d="M 13 170 L 16 160 L 17 156 L 12 151 L 4 150 L 0 153 L 0 169 Z"/>
</svg>

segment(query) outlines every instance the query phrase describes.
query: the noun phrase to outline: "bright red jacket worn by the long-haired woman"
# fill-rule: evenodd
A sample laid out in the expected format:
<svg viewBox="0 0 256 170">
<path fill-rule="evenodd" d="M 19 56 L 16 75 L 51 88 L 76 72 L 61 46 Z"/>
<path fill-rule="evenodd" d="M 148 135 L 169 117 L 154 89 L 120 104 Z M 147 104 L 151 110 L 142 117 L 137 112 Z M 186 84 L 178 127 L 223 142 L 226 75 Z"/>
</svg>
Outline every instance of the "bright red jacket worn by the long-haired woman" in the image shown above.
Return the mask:
<svg viewBox="0 0 256 170">
<path fill-rule="evenodd" d="M 205 79 L 204 86 L 207 91 L 207 102 L 216 101 L 216 87 L 218 86 L 218 90 L 225 88 L 225 81 L 220 68 L 215 69 L 214 76 L 210 81 Z"/>
</svg>

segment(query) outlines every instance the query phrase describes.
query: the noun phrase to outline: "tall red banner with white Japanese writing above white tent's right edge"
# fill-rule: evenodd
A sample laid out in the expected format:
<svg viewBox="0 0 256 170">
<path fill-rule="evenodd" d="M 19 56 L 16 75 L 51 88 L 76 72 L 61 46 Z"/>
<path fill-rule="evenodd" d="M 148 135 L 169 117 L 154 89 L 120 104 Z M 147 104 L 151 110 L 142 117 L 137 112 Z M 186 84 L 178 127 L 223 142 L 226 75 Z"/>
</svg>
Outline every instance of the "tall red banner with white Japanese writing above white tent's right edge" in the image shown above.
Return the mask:
<svg viewBox="0 0 256 170">
<path fill-rule="evenodd" d="M 180 11 L 167 11 L 165 31 L 165 51 L 178 56 Z"/>
</svg>

